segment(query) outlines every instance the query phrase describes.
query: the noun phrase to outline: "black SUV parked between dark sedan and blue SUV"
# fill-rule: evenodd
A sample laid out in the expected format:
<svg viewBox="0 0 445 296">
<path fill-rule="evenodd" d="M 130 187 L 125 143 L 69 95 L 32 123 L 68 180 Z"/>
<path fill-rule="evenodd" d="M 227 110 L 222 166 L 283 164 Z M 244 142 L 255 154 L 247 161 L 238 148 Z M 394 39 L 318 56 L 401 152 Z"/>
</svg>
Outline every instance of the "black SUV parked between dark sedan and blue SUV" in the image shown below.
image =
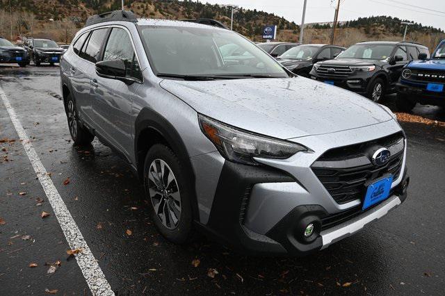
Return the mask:
<svg viewBox="0 0 445 296">
<path fill-rule="evenodd" d="M 403 67 L 428 47 L 414 42 L 359 42 L 334 60 L 316 63 L 311 78 L 379 101 L 396 91 Z"/>
</svg>

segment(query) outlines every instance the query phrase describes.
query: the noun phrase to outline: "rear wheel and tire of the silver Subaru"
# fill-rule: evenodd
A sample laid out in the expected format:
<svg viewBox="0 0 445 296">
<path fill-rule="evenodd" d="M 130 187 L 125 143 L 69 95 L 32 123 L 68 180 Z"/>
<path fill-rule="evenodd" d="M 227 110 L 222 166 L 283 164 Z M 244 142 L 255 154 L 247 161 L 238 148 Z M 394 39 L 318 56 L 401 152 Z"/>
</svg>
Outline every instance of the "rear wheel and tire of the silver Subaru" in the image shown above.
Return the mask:
<svg viewBox="0 0 445 296">
<path fill-rule="evenodd" d="M 72 99 L 71 94 L 67 95 L 65 112 L 67 113 L 68 129 L 70 129 L 74 145 L 90 145 L 95 136 L 79 123 L 76 103 Z"/>
</svg>

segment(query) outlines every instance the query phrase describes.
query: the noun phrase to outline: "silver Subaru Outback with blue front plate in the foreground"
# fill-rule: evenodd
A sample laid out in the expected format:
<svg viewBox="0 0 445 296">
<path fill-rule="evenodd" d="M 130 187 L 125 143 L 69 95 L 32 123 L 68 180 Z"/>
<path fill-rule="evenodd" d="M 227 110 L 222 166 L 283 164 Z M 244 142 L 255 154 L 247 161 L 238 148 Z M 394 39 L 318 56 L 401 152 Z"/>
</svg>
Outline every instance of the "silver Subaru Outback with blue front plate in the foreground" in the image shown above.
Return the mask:
<svg viewBox="0 0 445 296">
<path fill-rule="evenodd" d="M 172 242 L 199 230 L 240 252 L 305 255 L 407 196 L 388 108 L 296 76 L 226 28 L 95 15 L 60 74 L 74 143 L 97 137 L 129 163 Z"/>
</svg>

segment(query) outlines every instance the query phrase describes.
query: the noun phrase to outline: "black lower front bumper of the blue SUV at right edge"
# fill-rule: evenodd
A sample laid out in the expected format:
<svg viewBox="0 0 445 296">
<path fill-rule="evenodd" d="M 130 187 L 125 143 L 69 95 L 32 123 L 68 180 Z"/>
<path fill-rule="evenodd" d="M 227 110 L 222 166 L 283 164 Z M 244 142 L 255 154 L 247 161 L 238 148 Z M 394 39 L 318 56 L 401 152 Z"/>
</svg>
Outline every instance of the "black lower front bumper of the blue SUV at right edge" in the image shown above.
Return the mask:
<svg viewBox="0 0 445 296">
<path fill-rule="evenodd" d="M 428 83 L 419 83 L 401 79 L 396 84 L 398 93 L 405 94 L 410 100 L 420 104 L 445 106 L 445 90 L 443 92 L 430 92 L 426 90 Z"/>
</svg>

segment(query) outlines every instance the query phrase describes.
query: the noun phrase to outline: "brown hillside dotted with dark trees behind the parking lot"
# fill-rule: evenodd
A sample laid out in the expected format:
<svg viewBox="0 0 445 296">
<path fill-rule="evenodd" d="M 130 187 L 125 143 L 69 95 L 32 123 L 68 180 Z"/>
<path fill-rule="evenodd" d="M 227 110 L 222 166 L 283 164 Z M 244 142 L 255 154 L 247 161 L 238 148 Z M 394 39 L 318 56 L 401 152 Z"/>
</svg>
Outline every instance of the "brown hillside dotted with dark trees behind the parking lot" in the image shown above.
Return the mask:
<svg viewBox="0 0 445 296">
<path fill-rule="evenodd" d="M 230 8 L 199 1 L 125 0 L 126 9 L 138 17 L 161 19 L 195 19 L 208 17 L 230 24 Z M 70 42 L 88 16 L 120 9 L 120 0 L 0 0 L 0 35 L 34 35 Z M 11 19 L 13 22 L 11 22 Z M 348 46 L 362 40 L 401 40 L 405 20 L 396 17 L 360 17 L 342 22 L 336 43 Z M 12 24 L 12 26 L 11 26 Z M 248 38 L 261 41 L 266 24 L 277 24 L 280 41 L 297 41 L 300 27 L 283 17 L 259 10 L 238 9 L 234 14 L 234 30 Z M 330 24 L 312 24 L 305 30 L 305 42 L 327 43 Z M 444 32 L 430 26 L 410 26 L 407 40 L 434 47 L 445 38 Z"/>
</svg>

